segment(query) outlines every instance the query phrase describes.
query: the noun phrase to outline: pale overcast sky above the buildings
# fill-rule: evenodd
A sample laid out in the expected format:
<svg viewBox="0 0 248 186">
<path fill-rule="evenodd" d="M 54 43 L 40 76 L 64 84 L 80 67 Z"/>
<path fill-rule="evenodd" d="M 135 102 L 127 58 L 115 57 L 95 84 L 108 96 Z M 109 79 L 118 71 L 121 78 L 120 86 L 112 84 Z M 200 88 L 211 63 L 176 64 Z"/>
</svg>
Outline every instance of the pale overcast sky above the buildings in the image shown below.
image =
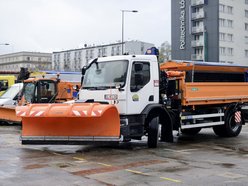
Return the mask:
<svg viewBox="0 0 248 186">
<path fill-rule="evenodd" d="M 160 46 L 171 37 L 171 0 L 0 0 L 0 54 L 53 52 L 121 40 Z"/>
</svg>

